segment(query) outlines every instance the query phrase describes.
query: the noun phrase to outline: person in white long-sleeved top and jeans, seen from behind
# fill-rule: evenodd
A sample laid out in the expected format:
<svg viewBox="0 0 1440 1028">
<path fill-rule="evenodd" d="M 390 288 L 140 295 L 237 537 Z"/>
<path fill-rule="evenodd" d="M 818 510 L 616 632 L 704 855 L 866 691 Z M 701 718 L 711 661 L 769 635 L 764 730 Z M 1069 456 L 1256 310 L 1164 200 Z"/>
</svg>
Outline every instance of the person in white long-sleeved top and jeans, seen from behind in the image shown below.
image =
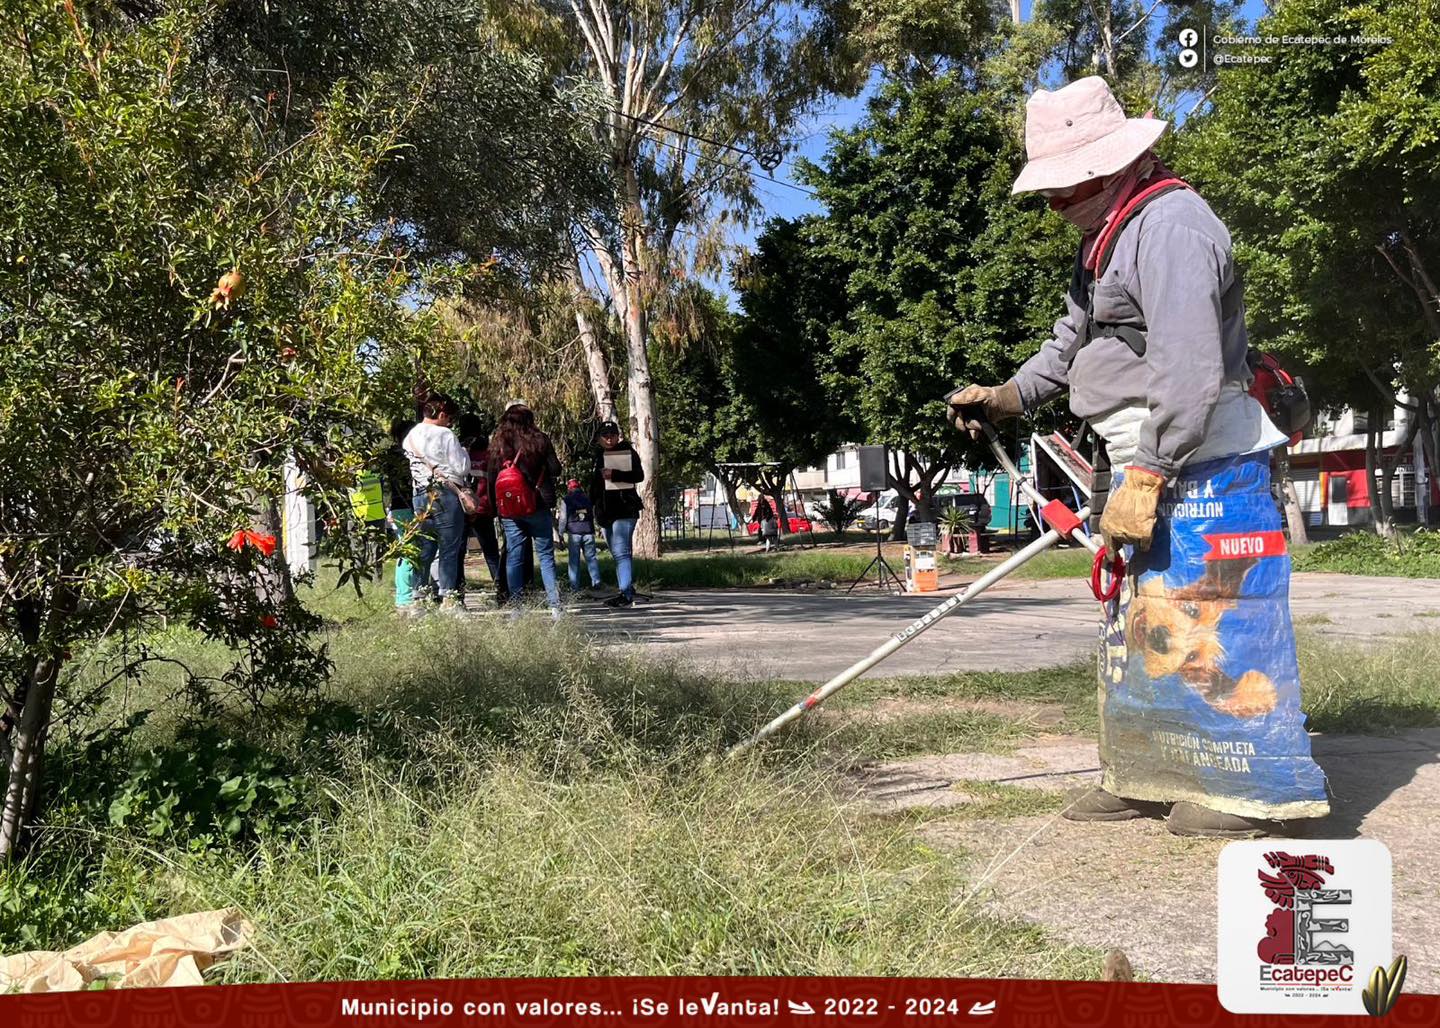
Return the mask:
<svg viewBox="0 0 1440 1028">
<path fill-rule="evenodd" d="M 428 393 L 423 403 L 425 420 L 405 436 L 405 455 L 410 461 L 410 481 L 415 485 L 415 517 L 420 523 L 418 534 L 420 559 L 415 579 L 425 585 L 416 589 L 418 602 L 429 592 L 429 567 L 436 560 L 439 600 L 442 606 L 459 605 L 456 567 L 462 567 L 461 547 L 465 546 L 465 511 L 456 490 L 469 478 L 469 454 L 451 430 L 459 416 L 459 406 L 444 393 Z"/>
</svg>

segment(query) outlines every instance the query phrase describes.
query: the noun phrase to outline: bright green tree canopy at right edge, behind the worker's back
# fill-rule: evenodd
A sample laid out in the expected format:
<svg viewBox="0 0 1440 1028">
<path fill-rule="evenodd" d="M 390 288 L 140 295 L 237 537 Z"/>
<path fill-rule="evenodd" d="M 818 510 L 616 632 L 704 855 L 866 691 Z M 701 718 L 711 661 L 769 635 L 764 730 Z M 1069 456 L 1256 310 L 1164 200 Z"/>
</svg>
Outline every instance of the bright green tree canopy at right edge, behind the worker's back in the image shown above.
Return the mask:
<svg viewBox="0 0 1440 1028">
<path fill-rule="evenodd" d="M 1434 466 L 1440 383 L 1440 23 L 1407 1 L 1289 0 L 1272 46 L 1221 71 L 1176 170 L 1230 226 L 1250 334 L 1303 363 L 1323 406 L 1416 406 Z"/>
</svg>

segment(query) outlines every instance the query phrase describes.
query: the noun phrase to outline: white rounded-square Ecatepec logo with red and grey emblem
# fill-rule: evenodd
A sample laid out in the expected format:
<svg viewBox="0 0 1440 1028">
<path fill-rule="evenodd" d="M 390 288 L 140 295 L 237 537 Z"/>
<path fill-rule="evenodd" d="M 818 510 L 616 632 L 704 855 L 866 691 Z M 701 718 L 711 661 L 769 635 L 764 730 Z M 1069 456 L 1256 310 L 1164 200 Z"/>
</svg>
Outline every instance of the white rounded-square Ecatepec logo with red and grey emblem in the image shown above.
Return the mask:
<svg viewBox="0 0 1440 1028">
<path fill-rule="evenodd" d="M 1390 851 L 1374 839 L 1233 842 L 1220 854 L 1220 1002 L 1234 1014 L 1365 1014 L 1390 963 Z"/>
</svg>

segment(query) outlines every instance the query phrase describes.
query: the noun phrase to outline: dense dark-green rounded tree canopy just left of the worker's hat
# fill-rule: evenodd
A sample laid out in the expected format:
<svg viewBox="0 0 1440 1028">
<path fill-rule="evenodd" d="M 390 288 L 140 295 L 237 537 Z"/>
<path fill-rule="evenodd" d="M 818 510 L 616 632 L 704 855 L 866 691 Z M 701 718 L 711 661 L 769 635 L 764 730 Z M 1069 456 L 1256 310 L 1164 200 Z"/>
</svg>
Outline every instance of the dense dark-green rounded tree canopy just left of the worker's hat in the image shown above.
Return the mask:
<svg viewBox="0 0 1440 1028">
<path fill-rule="evenodd" d="M 1004 98 L 952 75 L 887 86 L 806 167 L 827 213 L 805 259 L 845 281 L 827 384 L 865 441 L 909 455 L 894 485 L 922 515 L 946 469 L 984 461 L 946 422 L 945 393 L 1004 382 L 1061 311 L 1074 233 L 1011 196 L 1021 161 Z"/>
</svg>

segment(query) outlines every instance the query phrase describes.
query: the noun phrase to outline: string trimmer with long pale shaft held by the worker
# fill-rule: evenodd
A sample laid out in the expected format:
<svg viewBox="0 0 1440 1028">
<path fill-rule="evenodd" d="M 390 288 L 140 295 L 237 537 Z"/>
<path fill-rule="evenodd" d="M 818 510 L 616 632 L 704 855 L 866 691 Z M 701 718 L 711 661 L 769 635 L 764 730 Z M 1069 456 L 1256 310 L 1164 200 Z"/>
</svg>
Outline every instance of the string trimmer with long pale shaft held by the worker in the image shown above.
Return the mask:
<svg viewBox="0 0 1440 1028">
<path fill-rule="evenodd" d="M 851 664 L 808 697 L 756 731 L 753 736 L 732 746 L 727 756 L 750 749 L 762 739 L 773 736 L 805 711 L 814 710 L 819 704 L 825 703 L 825 700 L 850 685 L 850 682 L 860 678 L 860 675 L 870 671 L 870 668 L 880 664 L 901 646 L 913 642 L 920 636 L 920 634 L 935 628 L 942 618 L 955 613 L 1017 567 L 1028 563 L 1032 557 L 1035 557 L 1035 554 L 1048 550 L 1063 538 L 1071 538 L 1094 554 L 1094 563 L 1090 570 L 1090 590 L 1094 593 L 1097 600 L 1109 603 L 1120 595 L 1120 583 L 1125 579 L 1125 559 L 1120 557 L 1120 554 L 1115 554 L 1113 557 L 1109 556 L 1106 549 L 1084 531 L 1086 518 L 1090 515 L 1089 502 L 1080 507 L 1080 510 L 1073 511 L 1060 500 L 1047 500 L 1041 495 L 1040 490 L 1035 488 L 1035 484 L 1021 475 L 1020 469 L 1015 468 L 1015 462 L 1009 459 L 1009 454 L 1007 454 L 1005 448 L 1001 445 L 999 436 L 995 435 L 995 429 L 988 422 L 982 422 L 981 426 L 985 432 L 985 439 L 989 442 L 991 451 L 995 454 L 995 459 L 999 461 L 1001 468 L 1009 474 L 1009 479 L 1020 487 L 1020 491 L 1040 508 L 1040 515 L 1048 526 L 1045 533 L 1022 550 L 1017 550 L 1008 560 L 1004 560 L 981 577 L 975 579 L 975 582 L 972 582 L 965 592 L 950 596 L 933 610 L 926 612 L 916 621 L 910 622 L 906 628 L 891 635 L 881 645 L 870 651 L 870 654 L 864 658 Z M 1109 580 L 1106 580 L 1106 577 L 1109 577 Z"/>
</svg>

